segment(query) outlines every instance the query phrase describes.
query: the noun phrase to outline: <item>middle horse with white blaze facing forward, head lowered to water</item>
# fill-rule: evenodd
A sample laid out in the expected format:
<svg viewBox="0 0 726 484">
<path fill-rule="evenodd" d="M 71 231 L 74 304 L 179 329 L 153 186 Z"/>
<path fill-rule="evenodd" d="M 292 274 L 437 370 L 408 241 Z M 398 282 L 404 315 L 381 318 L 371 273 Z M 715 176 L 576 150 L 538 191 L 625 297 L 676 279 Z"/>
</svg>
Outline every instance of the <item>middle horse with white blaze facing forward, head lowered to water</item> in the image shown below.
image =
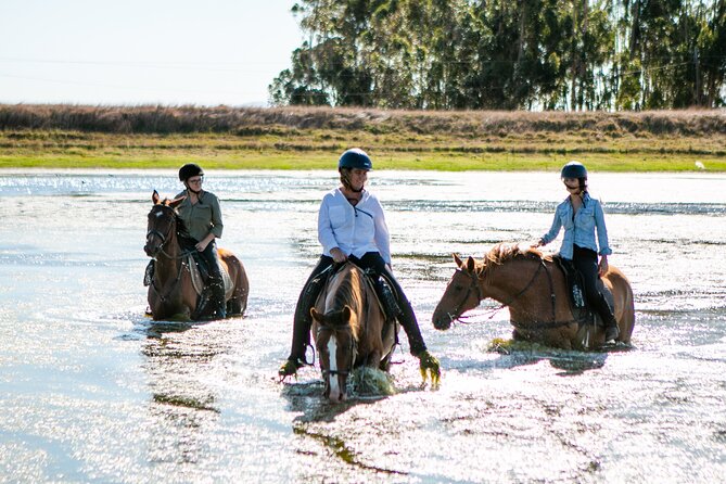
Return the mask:
<svg viewBox="0 0 726 484">
<path fill-rule="evenodd" d="M 397 326 L 386 323 L 378 295 L 358 266 L 348 262 L 330 277 L 310 315 L 323 395 L 331 402 L 346 398 L 346 381 L 354 368 L 387 371 Z"/>
</svg>

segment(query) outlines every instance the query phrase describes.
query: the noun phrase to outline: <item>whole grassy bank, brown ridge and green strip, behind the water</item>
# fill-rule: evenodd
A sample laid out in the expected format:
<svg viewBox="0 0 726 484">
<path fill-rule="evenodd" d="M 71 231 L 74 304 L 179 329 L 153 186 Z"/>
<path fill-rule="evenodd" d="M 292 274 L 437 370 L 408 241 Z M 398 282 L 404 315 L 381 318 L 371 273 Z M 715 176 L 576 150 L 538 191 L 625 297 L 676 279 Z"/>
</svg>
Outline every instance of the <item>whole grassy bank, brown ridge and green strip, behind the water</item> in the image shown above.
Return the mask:
<svg viewBox="0 0 726 484">
<path fill-rule="evenodd" d="M 351 147 L 380 169 L 726 171 L 726 115 L 0 105 L 0 166 L 323 169 Z"/>
</svg>

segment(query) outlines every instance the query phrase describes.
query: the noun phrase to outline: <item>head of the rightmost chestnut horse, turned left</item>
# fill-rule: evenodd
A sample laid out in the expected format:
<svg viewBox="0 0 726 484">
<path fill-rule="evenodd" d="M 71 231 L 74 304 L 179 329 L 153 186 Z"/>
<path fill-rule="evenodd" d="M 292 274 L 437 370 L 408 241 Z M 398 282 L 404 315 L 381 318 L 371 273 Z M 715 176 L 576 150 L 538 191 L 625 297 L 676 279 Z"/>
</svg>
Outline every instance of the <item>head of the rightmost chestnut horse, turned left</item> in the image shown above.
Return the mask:
<svg viewBox="0 0 726 484">
<path fill-rule="evenodd" d="M 469 257 L 463 263 L 456 254 L 454 254 L 454 262 L 457 269 L 433 314 L 434 328 L 437 330 L 449 329 L 453 321 L 459 319 L 469 309 L 479 306 L 482 300 L 479 280 L 484 266 L 477 267 L 473 257 Z"/>
</svg>

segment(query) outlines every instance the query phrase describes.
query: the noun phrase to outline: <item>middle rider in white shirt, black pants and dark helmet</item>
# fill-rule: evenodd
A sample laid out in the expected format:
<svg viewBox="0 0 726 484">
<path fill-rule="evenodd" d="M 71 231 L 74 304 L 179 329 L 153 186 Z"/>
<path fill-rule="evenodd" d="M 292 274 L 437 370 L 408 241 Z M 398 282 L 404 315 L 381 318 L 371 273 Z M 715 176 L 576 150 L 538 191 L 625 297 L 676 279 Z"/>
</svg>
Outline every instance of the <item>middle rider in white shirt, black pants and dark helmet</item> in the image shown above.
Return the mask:
<svg viewBox="0 0 726 484">
<path fill-rule="evenodd" d="M 395 316 L 408 336 L 411 354 L 421 360 L 422 368 L 438 368 L 438 361 L 426 351 L 411 303 L 391 271 L 391 242 L 383 207 L 378 198 L 364 188 L 372 167 L 370 156 L 357 148 L 344 152 L 337 162 L 341 186 L 328 192 L 320 205 L 318 240 L 322 255 L 297 300 L 292 348 L 279 371 L 283 378 L 309 365 L 305 352 L 310 345 L 310 307 L 315 306 L 331 267 L 348 259 L 372 271 L 374 280 L 383 276 L 391 282 L 398 306 Z"/>
</svg>

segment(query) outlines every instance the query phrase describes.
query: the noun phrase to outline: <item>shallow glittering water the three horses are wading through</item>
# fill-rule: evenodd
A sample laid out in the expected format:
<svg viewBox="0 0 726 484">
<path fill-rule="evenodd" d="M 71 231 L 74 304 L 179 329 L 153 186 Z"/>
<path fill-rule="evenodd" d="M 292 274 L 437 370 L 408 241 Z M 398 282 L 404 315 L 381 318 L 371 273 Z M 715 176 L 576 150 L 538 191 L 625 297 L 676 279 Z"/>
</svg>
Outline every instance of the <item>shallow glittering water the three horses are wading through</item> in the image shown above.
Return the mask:
<svg viewBox="0 0 726 484">
<path fill-rule="evenodd" d="M 371 178 L 444 374 L 423 385 L 402 334 L 397 393 L 333 406 L 315 369 L 275 377 L 334 173 L 209 174 L 251 296 L 244 318 L 198 326 L 143 316 L 145 215 L 153 189 L 178 191 L 174 173 L 0 177 L 0 482 L 723 480 L 726 176 L 594 174 L 635 348 L 508 355 L 487 351 L 511 332 L 493 302 L 448 332 L 431 313 L 451 252 L 549 228 L 557 175 Z"/>
</svg>

